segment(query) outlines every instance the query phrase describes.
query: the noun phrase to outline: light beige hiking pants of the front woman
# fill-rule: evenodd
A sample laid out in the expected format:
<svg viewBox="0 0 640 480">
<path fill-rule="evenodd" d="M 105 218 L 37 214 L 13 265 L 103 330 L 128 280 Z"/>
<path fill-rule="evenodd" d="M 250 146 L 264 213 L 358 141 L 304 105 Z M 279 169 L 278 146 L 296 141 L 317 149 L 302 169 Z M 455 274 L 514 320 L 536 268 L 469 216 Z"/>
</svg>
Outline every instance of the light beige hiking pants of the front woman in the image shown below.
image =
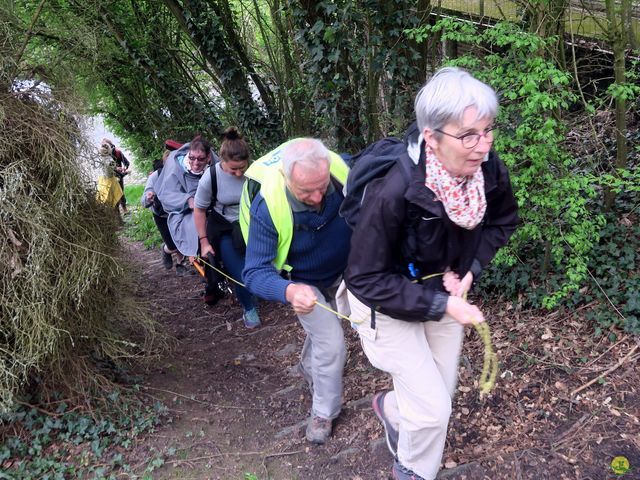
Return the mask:
<svg viewBox="0 0 640 480">
<path fill-rule="evenodd" d="M 349 293 L 351 318 L 371 364 L 393 378 L 385 414 L 398 428 L 398 460 L 430 480 L 442 460 L 451 399 L 456 389 L 463 327 L 445 315 L 440 321 L 406 322 L 376 313 Z"/>
</svg>

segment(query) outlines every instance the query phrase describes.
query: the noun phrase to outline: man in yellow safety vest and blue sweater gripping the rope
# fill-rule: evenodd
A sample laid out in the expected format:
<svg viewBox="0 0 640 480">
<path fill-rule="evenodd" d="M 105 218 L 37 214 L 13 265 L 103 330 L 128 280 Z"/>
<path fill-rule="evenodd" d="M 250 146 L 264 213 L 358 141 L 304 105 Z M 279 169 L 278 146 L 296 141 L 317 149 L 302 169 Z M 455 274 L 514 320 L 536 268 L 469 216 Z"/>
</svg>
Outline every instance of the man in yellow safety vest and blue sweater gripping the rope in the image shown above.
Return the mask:
<svg viewBox="0 0 640 480">
<path fill-rule="evenodd" d="M 346 360 L 335 293 L 349 254 L 351 231 L 338 215 L 348 167 L 320 140 L 291 140 L 257 160 L 245 175 L 240 222 L 247 254 L 244 282 L 253 294 L 289 304 L 307 333 L 299 370 L 313 394 L 307 440 L 322 444 L 342 407 Z M 251 182 L 247 182 L 250 184 Z"/>
</svg>

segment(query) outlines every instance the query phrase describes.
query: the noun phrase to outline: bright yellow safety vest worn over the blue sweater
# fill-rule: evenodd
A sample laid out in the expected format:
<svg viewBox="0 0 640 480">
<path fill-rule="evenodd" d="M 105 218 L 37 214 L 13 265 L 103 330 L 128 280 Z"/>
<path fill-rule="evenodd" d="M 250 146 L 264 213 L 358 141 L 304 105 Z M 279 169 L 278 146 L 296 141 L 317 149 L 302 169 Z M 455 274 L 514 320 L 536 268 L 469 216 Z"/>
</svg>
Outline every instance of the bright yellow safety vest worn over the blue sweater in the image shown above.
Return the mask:
<svg viewBox="0 0 640 480">
<path fill-rule="evenodd" d="M 282 149 L 295 140 L 289 140 L 258 160 L 253 162 L 245 172 L 245 176 L 250 180 L 255 180 L 260 184 L 260 193 L 264 198 L 271 221 L 278 232 L 278 249 L 273 265 L 278 271 L 291 271 L 291 267 L 286 265 L 291 239 L 293 238 L 293 212 L 287 200 L 286 183 L 282 169 Z M 335 152 L 329 151 L 331 163 L 329 172 L 338 182 L 344 185 L 349 174 L 349 167 L 342 157 Z M 240 228 L 244 241 L 249 244 L 249 222 L 251 194 L 248 189 L 249 181 L 245 182 L 240 198 Z"/>
</svg>

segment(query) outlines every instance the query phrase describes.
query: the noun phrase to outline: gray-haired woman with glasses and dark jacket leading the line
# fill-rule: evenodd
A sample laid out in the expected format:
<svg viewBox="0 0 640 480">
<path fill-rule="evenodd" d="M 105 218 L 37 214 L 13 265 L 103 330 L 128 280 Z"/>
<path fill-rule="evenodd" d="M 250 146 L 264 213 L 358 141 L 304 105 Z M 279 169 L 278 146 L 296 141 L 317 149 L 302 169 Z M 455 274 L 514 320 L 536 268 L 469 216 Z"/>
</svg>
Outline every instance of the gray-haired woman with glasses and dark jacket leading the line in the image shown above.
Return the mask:
<svg viewBox="0 0 640 480">
<path fill-rule="evenodd" d="M 396 479 L 438 472 L 463 327 L 483 322 L 466 292 L 518 223 L 504 164 L 491 151 L 495 92 L 457 68 L 420 90 L 410 162 L 372 181 L 352 236 L 345 281 L 365 354 L 393 378 L 373 408 Z M 442 276 L 420 281 L 430 274 Z M 371 318 L 371 313 L 374 318 Z"/>
</svg>

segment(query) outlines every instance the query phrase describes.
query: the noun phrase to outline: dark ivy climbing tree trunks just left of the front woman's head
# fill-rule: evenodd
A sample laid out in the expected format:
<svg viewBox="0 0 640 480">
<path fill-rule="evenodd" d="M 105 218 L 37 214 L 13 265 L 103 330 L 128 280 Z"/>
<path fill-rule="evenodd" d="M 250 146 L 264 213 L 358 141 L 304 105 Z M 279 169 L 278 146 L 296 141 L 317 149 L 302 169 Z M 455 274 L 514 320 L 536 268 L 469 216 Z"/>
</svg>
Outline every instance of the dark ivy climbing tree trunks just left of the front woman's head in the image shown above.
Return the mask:
<svg viewBox="0 0 640 480">
<path fill-rule="evenodd" d="M 312 130 L 350 152 L 400 133 L 424 81 L 426 59 L 405 33 L 424 16 L 416 2 L 291 2 L 290 8 L 295 40 L 307 53 L 304 74 L 317 113 Z"/>
</svg>

